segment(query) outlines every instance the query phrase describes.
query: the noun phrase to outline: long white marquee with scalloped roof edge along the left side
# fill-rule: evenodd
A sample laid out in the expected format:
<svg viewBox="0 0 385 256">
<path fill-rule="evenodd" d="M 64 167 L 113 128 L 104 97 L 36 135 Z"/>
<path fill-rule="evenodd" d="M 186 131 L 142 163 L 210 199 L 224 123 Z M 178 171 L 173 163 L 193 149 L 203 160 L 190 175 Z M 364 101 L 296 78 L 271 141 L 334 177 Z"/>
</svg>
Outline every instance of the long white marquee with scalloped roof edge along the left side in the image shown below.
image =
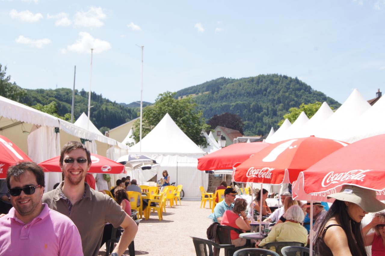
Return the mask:
<svg viewBox="0 0 385 256">
<path fill-rule="evenodd" d="M 22 149 L 34 162 L 60 154 L 60 149 L 79 138 L 118 145 L 113 139 L 82 129 L 47 113 L 0 96 L 0 134 Z M 57 129 L 59 128 L 59 129 Z M 45 173 L 45 190 L 61 181 L 61 173 Z"/>
</svg>

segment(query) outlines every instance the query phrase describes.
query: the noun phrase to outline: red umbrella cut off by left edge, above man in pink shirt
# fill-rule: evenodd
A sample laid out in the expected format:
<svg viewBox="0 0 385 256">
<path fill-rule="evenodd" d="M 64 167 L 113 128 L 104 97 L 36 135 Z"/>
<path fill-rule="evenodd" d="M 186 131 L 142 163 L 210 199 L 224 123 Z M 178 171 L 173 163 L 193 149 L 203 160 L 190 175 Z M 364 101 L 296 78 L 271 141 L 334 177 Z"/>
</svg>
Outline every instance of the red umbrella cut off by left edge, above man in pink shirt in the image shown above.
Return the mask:
<svg viewBox="0 0 385 256">
<path fill-rule="evenodd" d="M 7 177 L 8 167 L 25 161 L 32 160 L 7 137 L 0 135 L 0 179 Z"/>
</svg>

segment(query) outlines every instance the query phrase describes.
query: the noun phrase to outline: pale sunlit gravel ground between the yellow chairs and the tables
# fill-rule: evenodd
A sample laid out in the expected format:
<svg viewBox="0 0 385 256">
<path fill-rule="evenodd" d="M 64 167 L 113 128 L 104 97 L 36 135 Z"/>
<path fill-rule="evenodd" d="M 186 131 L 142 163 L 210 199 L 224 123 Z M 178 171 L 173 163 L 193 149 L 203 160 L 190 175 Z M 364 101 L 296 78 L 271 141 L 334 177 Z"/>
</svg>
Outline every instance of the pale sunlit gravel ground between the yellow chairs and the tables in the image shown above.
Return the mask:
<svg viewBox="0 0 385 256">
<path fill-rule="evenodd" d="M 166 207 L 163 220 L 159 221 L 157 212 L 142 220 L 134 239 L 135 255 L 194 256 L 195 248 L 190 236 L 206 238 L 206 229 L 212 223 L 207 218 L 211 213 L 208 202 L 206 208 L 199 208 L 201 201 L 183 201 L 182 205 Z M 105 255 L 105 246 L 99 255 Z M 223 254 L 223 250 L 221 250 Z M 123 255 L 129 255 L 128 250 Z"/>
</svg>

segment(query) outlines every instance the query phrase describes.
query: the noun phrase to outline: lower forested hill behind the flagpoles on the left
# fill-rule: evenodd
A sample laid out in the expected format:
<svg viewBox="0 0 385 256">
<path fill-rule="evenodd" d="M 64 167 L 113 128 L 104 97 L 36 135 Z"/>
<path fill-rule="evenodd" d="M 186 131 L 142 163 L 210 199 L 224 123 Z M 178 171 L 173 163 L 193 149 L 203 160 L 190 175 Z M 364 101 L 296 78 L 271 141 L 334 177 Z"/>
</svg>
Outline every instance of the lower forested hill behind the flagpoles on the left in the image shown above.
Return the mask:
<svg viewBox="0 0 385 256">
<path fill-rule="evenodd" d="M 27 94 L 20 100 L 21 103 L 28 106 L 57 103 L 58 114 L 64 116 L 71 113 L 72 90 L 60 88 L 55 90 L 35 89 L 27 90 Z M 108 127 L 110 129 L 117 127 L 131 119 L 137 117 L 137 108 L 128 108 L 123 105 L 103 98 L 101 94 L 91 92 L 91 121 L 100 129 Z M 88 92 L 85 90 L 75 90 L 74 119 L 76 120 L 82 112 L 88 114 Z"/>
</svg>

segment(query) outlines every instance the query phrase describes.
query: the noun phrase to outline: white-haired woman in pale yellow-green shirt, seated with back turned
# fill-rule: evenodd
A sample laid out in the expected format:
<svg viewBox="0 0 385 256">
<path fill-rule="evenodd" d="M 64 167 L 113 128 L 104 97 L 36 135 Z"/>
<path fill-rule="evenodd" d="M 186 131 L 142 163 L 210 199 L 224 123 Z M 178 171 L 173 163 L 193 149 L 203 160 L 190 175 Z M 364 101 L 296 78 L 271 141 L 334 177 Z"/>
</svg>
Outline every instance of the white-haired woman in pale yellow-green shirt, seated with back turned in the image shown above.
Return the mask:
<svg viewBox="0 0 385 256">
<path fill-rule="evenodd" d="M 264 238 L 256 247 L 263 247 L 267 243 L 273 242 L 299 242 L 307 244 L 308 232 L 301 225 L 305 214 L 298 205 L 290 206 L 289 209 L 283 214 L 286 219 L 284 223 L 276 224 L 270 231 L 269 235 Z M 271 251 L 275 251 L 275 247 L 270 248 Z"/>
</svg>

